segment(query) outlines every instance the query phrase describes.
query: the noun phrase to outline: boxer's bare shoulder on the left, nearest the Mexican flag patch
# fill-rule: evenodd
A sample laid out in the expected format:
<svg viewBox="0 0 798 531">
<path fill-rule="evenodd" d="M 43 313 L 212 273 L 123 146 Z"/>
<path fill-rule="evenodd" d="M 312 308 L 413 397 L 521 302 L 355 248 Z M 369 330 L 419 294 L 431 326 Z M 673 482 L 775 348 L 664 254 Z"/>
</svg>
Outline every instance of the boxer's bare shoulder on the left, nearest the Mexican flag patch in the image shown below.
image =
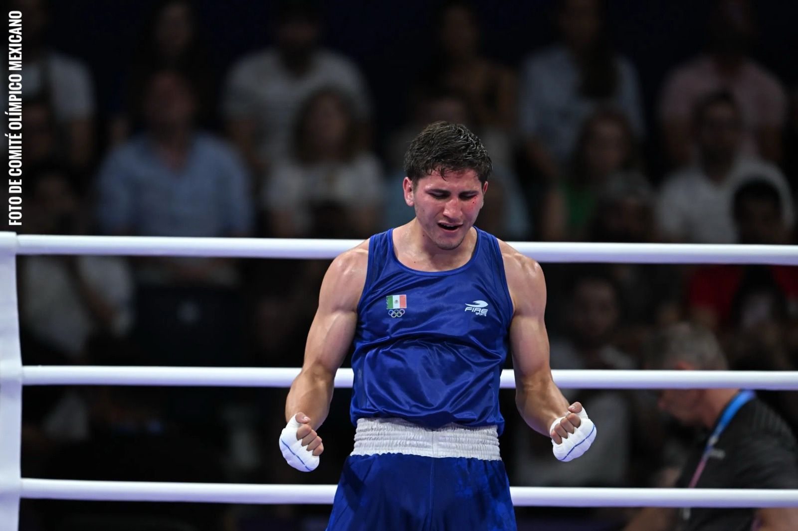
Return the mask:
<svg viewBox="0 0 798 531">
<path fill-rule="evenodd" d="M 339 254 L 330 264 L 322 283 L 319 305 L 355 310 L 358 307 L 369 264 L 369 241 Z"/>
</svg>

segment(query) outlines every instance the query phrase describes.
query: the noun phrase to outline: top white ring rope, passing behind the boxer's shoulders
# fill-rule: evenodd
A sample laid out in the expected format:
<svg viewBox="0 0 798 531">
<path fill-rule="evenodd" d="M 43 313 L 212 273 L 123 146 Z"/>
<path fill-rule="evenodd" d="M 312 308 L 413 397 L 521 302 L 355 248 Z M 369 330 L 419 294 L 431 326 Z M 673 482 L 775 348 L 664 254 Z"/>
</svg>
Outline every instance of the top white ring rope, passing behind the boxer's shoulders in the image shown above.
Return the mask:
<svg viewBox="0 0 798 531">
<path fill-rule="evenodd" d="M 20 234 L 17 254 L 334 258 L 361 240 Z M 539 262 L 798 265 L 796 246 L 509 242 Z"/>
</svg>

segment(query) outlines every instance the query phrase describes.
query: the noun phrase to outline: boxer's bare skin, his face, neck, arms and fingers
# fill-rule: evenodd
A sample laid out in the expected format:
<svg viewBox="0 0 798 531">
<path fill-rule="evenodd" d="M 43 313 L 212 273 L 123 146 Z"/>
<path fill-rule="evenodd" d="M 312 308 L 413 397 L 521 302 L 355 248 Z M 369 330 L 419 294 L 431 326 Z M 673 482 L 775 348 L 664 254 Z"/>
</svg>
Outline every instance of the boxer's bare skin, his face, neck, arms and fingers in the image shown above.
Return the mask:
<svg viewBox="0 0 798 531">
<path fill-rule="evenodd" d="M 421 271 L 443 271 L 463 266 L 476 246 L 472 228 L 488 183 L 480 183 L 473 170 L 434 171 L 413 183 L 402 183 L 405 203 L 416 218 L 393 230 L 399 262 Z M 330 411 L 335 372 L 350 350 L 358 321 L 360 300 L 368 264 L 369 242 L 338 255 L 322 281 L 318 311 L 308 333 L 302 370 L 291 384 L 286 399 L 286 421 L 296 415 L 309 420 L 297 438 L 324 451 L 316 430 Z M 561 443 L 579 427 L 581 404 L 570 407 L 551 379 L 549 344 L 543 311 L 546 283 L 537 262 L 500 242 L 504 271 L 513 304 L 510 344 L 516 373 L 516 405 L 535 431 Z M 555 419 L 564 419 L 549 433 Z M 310 446 L 308 446 L 310 448 Z"/>
</svg>

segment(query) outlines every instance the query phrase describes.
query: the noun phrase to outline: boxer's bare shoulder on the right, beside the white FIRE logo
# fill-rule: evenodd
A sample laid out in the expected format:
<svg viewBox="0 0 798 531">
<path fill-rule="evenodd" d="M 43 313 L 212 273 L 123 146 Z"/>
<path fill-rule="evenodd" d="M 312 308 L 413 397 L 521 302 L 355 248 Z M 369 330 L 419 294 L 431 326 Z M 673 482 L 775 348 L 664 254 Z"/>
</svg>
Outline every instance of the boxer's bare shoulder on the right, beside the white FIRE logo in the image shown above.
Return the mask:
<svg viewBox="0 0 798 531">
<path fill-rule="evenodd" d="M 499 240 L 504 275 L 514 313 L 543 313 L 546 306 L 546 281 L 540 264 Z"/>
</svg>

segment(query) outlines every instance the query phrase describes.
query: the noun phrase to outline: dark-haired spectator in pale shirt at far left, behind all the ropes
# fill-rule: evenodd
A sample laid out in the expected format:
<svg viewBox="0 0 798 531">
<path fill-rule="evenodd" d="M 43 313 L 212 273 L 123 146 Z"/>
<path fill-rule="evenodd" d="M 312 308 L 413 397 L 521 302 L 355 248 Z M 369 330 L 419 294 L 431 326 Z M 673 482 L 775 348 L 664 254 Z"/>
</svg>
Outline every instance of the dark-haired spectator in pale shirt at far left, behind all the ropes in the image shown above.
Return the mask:
<svg viewBox="0 0 798 531">
<path fill-rule="evenodd" d="M 27 117 L 26 117 L 27 119 Z M 85 234 L 85 199 L 78 179 L 59 163 L 26 170 L 26 232 Z M 26 364 L 81 364 L 97 344 L 119 352 L 133 316 L 132 276 L 114 256 L 20 256 L 20 340 Z M 23 473 L 40 475 L 60 443 L 89 436 L 81 390 L 26 391 Z"/>
</svg>

